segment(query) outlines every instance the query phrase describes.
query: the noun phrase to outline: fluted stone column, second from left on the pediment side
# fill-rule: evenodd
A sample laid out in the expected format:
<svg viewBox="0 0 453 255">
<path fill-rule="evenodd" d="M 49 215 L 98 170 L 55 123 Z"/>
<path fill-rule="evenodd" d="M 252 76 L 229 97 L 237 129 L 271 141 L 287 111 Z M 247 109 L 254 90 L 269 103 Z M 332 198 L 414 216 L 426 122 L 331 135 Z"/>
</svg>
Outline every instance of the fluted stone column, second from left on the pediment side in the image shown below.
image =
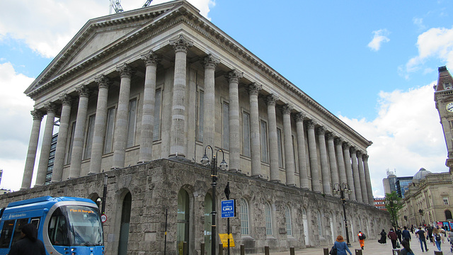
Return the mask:
<svg viewBox="0 0 453 255">
<path fill-rule="evenodd" d="M 47 110 L 47 118 L 45 120 L 44 135 L 42 137 L 38 174 L 36 174 L 36 186 L 42 186 L 45 183 L 47 166 L 49 166 L 50 145 L 52 145 L 52 135 L 54 132 L 55 112 L 57 111 L 55 103 L 46 103 L 45 108 Z"/>
</svg>

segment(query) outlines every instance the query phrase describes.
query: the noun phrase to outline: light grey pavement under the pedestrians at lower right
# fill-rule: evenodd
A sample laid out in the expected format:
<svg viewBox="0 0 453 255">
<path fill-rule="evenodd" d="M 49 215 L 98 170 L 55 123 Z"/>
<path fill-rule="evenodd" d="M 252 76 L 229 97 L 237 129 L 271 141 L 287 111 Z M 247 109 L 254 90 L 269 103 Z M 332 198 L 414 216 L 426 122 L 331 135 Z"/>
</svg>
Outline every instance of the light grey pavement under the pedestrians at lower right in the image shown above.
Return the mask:
<svg viewBox="0 0 453 255">
<path fill-rule="evenodd" d="M 430 243 L 428 241 L 426 243 L 426 246 L 428 247 L 428 251 L 425 251 L 422 253 L 422 250 L 420 248 L 420 242 L 418 242 L 418 239 L 415 237 L 415 234 L 412 234 L 412 241 L 410 243 L 411 249 L 413 250 L 413 253 L 415 255 L 432 255 L 434 254 L 434 251 L 437 251 L 437 247 L 433 245 L 434 243 Z M 360 244 L 359 242 L 351 242 L 352 247 L 350 247 L 350 251 L 352 252 L 352 255 L 355 255 L 355 249 L 360 249 Z M 323 254 L 323 248 L 328 248 L 329 250 L 331 249 L 332 245 L 329 245 L 328 247 L 320 247 L 320 248 L 306 248 L 306 249 L 301 249 L 298 251 L 295 251 L 295 255 L 322 255 Z M 423 247 L 424 248 L 424 247 Z M 445 243 L 441 245 L 442 252 L 444 255 L 452 255 L 453 253 L 450 252 L 450 245 L 449 242 L 447 242 L 447 239 L 445 238 Z M 403 246 L 401 246 L 401 249 L 403 249 Z M 372 239 L 372 240 L 365 240 L 365 249 L 362 251 L 363 255 L 392 255 L 392 247 L 391 247 L 391 242 L 389 242 L 389 239 L 387 239 L 387 244 L 379 244 L 377 242 L 377 239 Z M 260 254 L 261 255 L 261 254 Z M 289 255 L 289 251 L 282 251 L 282 252 L 271 252 L 270 255 Z"/>
</svg>

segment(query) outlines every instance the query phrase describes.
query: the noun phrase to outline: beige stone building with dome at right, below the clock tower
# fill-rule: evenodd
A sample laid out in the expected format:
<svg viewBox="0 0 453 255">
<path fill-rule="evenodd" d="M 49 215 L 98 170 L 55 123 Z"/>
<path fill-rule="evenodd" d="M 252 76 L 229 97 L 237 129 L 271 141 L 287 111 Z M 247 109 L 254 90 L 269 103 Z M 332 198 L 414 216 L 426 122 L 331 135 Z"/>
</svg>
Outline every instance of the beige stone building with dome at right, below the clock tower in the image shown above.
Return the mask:
<svg viewBox="0 0 453 255">
<path fill-rule="evenodd" d="M 400 225 L 436 225 L 435 222 L 451 222 L 453 206 L 452 178 L 447 173 L 430 173 L 425 169 L 413 177 L 406 191 L 403 208 L 399 211 Z"/>
</svg>

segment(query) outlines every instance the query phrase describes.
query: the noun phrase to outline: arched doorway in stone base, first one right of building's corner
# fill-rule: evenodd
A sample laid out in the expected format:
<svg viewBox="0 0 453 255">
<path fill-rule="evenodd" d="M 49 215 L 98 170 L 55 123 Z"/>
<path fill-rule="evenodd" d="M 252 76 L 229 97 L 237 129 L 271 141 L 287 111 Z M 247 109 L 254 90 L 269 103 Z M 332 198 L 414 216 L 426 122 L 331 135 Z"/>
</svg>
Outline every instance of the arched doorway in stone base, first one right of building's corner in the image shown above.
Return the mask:
<svg viewBox="0 0 453 255">
<path fill-rule="evenodd" d="M 176 244 L 178 255 L 183 254 L 184 242 L 189 244 L 190 200 L 187 191 L 183 188 L 178 193 L 178 216 L 176 219 Z"/>
</svg>

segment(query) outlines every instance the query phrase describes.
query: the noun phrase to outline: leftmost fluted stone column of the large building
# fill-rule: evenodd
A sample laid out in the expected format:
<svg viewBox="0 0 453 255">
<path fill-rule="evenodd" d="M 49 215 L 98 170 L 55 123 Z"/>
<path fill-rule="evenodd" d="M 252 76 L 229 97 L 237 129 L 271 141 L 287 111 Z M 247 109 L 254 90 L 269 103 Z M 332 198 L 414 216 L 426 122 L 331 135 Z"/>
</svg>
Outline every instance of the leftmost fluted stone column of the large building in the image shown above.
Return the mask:
<svg viewBox="0 0 453 255">
<path fill-rule="evenodd" d="M 35 168 L 36 150 L 38 149 L 38 139 L 40 137 L 41 120 L 43 113 L 38 110 L 30 112 L 33 116 L 33 125 L 31 128 L 30 142 L 28 142 L 27 158 L 23 170 L 21 190 L 30 188 L 33 169 Z"/>
</svg>

